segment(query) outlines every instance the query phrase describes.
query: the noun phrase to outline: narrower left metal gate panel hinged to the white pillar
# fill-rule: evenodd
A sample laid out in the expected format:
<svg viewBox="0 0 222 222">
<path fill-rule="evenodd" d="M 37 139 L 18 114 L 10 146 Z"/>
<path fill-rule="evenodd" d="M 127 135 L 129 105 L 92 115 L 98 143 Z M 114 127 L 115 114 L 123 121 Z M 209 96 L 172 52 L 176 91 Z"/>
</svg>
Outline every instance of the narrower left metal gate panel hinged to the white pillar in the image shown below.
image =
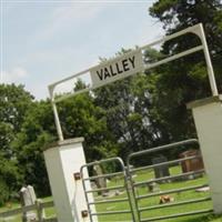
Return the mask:
<svg viewBox="0 0 222 222">
<path fill-rule="evenodd" d="M 104 167 L 108 164 L 112 165 L 112 169 L 111 170 L 109 169 L 109 171 L 113 171 L 113 172 L 109 172 L 109 173 L 102 172 L 102 174 L 93 175 L 93 176 L 89 176 L 88 173 L 84 172 L 85 168 L 89 171 L 91 171 L 92 168 L 95 165 Z M 83 184 L 83 189 L 85 193 L 85 200 L 87 200 L 88 211 L 89 211 L 91 222 L 93 221 L 94 216 L 97 216 L 99 221 L 107 221 L 104 220 L 105 216 L 109 216 L 109 220 L 111 221 L 119 221 L 121 220 L 119 218 L 120 214 L 121 215 L 123 214 L 121 218 L 123 219 L 127 218 L 128 221 L 135 221 L 134 219 L 135 213 L 133 210 L 134 208 L 132 205 L 132 201 L 130 196 L 132 192 L 130 192 L 130 189 L 128 186 L 129 181 L 127 176 L 125 167 L 124 167 L 123 161 L 120 158 L 111 158 L 111 159 L 84 164 L 81 167 L 80 172 L 82 175 L 82 184 Z M 87 182 L 89 181 L 92 183 L 92 181 L 95 181 L 95 180 L 100 180 L 100 179 L 112 180 L 113 178 L 115 180 L 114 185 L 111 184 L 111 185 L 108 185 L 107 188 L 99 188 L 99 189 L 93 188 L 93 185 L 91 185 L 90 190 L 87 189 Z M 104 192 L 103 196 L 97 195 L 97 193 L 99 192 Z M 105 194 L 105 192 L 111 193 L 111 194 Z M 91 202 L 89 198 L 89 194 L 91 193 L 93 193 L 93 199 L 94 199 L 93 202 Z M 123 208 L 119 203 L 123 203 Z M 113 205 L 117 205 L 117 204 L 121 206 L 120 210 L 112 210 Z M 97 212 L 93 212 L 92 205 L 97 208 Z M 99 205 L 105 205 L 107 206 L 105 211 L 98 210 L 98 208 L 101 208 Z M 114 216 L 112 218 L 112 215 Z"/>
</svg>

